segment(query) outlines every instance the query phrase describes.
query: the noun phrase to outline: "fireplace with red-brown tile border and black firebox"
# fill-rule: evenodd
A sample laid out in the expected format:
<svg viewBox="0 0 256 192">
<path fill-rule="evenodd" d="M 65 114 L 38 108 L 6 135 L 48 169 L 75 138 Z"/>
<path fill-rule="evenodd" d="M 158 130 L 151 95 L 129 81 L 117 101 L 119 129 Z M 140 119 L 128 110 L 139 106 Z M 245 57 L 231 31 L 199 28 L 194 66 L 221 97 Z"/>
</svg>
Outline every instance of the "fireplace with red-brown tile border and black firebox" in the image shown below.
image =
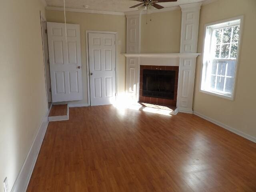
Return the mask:
<svg viewBox="0 0 256 192">
<path fill-rule="evenodd" d="M 140 102 L 176 106 L 178 66 L 140 66 Z"/>
</svg>

